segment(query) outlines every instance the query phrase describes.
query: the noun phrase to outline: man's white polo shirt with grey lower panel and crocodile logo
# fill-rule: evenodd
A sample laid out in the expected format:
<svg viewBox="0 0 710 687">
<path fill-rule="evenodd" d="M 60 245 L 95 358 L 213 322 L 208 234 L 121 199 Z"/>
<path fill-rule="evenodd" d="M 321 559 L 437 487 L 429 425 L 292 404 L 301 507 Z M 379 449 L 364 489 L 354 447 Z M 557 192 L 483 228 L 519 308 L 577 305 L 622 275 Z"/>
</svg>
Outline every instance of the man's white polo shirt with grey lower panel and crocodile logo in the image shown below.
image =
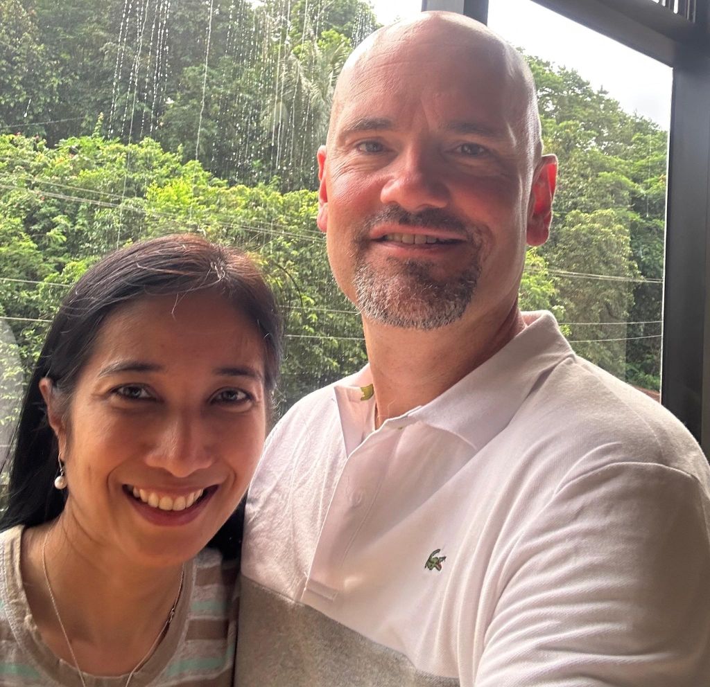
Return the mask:
<svg viewBox="0 0 710 687">
<path fill-rule="evenodd" d="M 368 368 L 268 439 L 239 686 L 710 685 L 710 474 L 550 313 L 363 440 Z"/>
</svg>

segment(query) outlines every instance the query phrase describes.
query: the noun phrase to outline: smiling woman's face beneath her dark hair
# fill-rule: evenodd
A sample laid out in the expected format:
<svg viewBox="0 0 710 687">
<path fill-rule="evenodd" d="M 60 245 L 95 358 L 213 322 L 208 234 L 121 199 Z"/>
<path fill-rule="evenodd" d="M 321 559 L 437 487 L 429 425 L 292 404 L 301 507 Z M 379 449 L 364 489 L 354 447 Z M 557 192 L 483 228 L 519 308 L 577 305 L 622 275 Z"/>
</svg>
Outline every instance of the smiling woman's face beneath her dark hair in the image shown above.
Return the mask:
<svg viewBox="0 0 710 687">
<path fill-rule="evenodd" d="M 261 336 L 218 294 L 146 296 L 109 315 L 64 418 L 49 399 L 68 531 L 135 564 L 194 556 L 256 467 L 263 380 Z"/>
</svg>

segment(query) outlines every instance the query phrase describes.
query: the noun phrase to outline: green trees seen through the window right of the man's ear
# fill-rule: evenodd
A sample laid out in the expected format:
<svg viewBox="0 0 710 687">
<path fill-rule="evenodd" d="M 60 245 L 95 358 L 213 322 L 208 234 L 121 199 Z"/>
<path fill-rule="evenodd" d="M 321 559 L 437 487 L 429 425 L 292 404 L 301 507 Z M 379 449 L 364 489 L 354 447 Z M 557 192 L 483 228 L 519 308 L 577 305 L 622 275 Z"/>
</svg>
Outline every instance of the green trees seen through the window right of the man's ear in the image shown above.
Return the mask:
<svg viewBox="0 0 710 687">
<path fill-rule="evenodd" d="M 667 134 L 651 121 L 624 112 L 617 101 L 604 91 L 594 91 L 576 72 L 535 57 L 528 57 L 528 62 L 537 84 L 545 147 L 560 162 L 552 235 L 540 252 L 553 274 L 602 275 L 601 279 L 555 276 L 565 318 L 591 323 L 579 325 L 572 339 L 599 339 L 598 344 L 580 344 L 577 349 L 615 374 L 625 374 L 632 383 L 657 389 Z M 626 243 L 616 265 L 594 250 L 581 261 L 576 242 L 586 241 L 584 226 L 594 230 L 596 221 L 580 225 L 574 213 L 591 217 L 596 211 L 613 211 L 616 225 L 625 227 L 629 269 L 623 269 Z M 577 226 L 574 238 L 568 231 L 570 222 Z M 612 247 L 608 245 L 608 250 Z M 624 320 L 634 324 L 621 324 L 593 307 L 608 304 L 610 276 L 617 278 L 618 291 L 626 289 L 626 295 L 617 294 L 616 303 L 626 303 Z M 584 290 L 578 288 L 581 282 Z M 577 303 L 574 308 L 573 303 Z M 626 341 L 602 341 L 609 339 Z"/>
</svg>

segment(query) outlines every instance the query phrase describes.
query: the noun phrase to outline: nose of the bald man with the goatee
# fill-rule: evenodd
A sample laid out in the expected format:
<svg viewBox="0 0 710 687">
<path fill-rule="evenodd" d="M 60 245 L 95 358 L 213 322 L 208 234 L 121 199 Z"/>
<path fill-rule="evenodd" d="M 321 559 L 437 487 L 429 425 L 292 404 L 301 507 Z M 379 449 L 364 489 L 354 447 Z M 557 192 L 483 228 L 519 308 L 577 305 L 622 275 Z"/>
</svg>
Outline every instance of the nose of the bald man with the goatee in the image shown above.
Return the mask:
<svg viewBox="0 0 710 687">
<path fill-rule="evenodd" d="M 383 205 L 394 203 L 409 212 L 447 206 L 444 170 L 433 158 L 430 152 L 410 150 L 395 160 L 380 194 Z"/>
</svg>

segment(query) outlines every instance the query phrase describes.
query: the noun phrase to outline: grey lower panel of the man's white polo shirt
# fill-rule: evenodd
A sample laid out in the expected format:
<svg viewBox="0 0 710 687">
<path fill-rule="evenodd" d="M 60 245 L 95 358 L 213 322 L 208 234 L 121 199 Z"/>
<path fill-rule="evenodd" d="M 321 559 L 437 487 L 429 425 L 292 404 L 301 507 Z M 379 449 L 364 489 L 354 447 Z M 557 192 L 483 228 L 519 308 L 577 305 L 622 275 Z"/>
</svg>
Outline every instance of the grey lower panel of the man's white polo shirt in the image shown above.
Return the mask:
<svg viewBox="0 0 710 687">
<path fill-rule="evenodd" d="M 458 687 L 407 657 L 241 579 L 236 687 Z"/>
</svg>

